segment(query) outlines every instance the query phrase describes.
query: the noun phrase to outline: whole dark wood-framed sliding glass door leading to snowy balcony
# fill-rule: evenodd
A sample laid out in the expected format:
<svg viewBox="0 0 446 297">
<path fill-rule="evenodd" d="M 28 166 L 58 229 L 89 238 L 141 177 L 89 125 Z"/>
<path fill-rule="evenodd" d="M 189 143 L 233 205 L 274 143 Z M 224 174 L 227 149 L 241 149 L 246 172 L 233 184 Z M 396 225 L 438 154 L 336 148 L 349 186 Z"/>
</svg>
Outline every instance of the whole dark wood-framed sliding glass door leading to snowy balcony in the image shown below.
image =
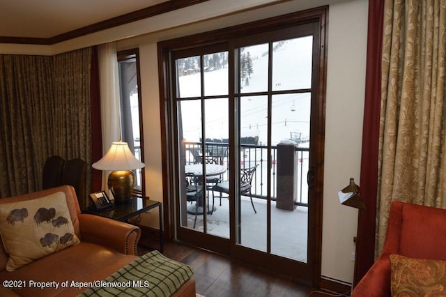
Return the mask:
<svg viewBox="0 0 446 297">
<path fill-rule="evenodd" d="M 176 234 L 313 282 L 320 262 L 321 22 L 169 43 Z M 167 47 L 167 45 L 166 45 Z"/>
</svg>

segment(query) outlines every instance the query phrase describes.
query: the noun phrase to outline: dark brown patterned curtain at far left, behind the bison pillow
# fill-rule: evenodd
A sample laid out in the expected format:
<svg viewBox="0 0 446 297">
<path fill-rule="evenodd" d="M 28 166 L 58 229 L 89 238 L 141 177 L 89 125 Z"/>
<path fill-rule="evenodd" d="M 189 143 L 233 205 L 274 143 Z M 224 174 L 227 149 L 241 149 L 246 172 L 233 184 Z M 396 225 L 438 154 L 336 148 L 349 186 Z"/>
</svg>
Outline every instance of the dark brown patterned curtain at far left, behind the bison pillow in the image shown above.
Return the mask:
<svg viewBox="0 0 446 297">
<path fill-rule="evenodd" d="M 0 55 L 0 196 L 37 190 L 45 159 L 55 153 L 54 60 Z"/>
</svg>

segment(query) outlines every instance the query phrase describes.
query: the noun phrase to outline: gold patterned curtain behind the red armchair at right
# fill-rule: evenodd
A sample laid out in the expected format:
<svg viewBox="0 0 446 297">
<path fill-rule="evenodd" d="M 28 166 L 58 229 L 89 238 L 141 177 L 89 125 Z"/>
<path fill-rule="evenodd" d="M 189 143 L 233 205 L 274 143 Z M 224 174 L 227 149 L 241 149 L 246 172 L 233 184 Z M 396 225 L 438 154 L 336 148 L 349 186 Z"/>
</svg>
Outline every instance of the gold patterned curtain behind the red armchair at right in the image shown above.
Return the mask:
<svg viewBox="0 0 446 297">
<path fill-rule="evenodd" d="M 386 0 L 376 254 L 393 200 L 446 208 L 446 0 Z"/>
</svg>

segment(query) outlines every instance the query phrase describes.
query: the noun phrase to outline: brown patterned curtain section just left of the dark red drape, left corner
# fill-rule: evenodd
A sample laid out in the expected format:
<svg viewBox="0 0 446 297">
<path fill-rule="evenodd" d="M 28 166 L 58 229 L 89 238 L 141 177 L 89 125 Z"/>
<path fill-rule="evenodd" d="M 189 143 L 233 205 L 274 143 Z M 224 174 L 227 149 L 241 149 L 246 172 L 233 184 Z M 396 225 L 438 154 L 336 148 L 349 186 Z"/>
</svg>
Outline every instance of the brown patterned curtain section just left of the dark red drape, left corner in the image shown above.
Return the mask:
<svg viewBox="0 0 446 297">
<path fill-rule="evenodd" d="M 91 192 L 91 47 L 54 59 L 54 150 L 66 160 L 87 164 L 85 188 Z M 77 197 L 81 208 L 87 197 Z"/>
</svg>

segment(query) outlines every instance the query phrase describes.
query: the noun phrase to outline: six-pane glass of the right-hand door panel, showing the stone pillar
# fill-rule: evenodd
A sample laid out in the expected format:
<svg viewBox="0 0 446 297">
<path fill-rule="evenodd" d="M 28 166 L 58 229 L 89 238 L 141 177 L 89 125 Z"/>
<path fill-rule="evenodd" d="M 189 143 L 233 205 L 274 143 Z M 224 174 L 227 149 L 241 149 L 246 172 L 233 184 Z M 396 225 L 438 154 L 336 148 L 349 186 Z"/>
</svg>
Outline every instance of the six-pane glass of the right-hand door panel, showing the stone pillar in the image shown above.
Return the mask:
<svg viewBox="0 0 446 297">
<path fill-rule="evenodd" d="M 250 195 L 240 190 L 237 199 L 237 243 L 304 263 L 312 43 L 305 36 L 238 49 L 240 172 L 257 167 Z"/>
</svg>

